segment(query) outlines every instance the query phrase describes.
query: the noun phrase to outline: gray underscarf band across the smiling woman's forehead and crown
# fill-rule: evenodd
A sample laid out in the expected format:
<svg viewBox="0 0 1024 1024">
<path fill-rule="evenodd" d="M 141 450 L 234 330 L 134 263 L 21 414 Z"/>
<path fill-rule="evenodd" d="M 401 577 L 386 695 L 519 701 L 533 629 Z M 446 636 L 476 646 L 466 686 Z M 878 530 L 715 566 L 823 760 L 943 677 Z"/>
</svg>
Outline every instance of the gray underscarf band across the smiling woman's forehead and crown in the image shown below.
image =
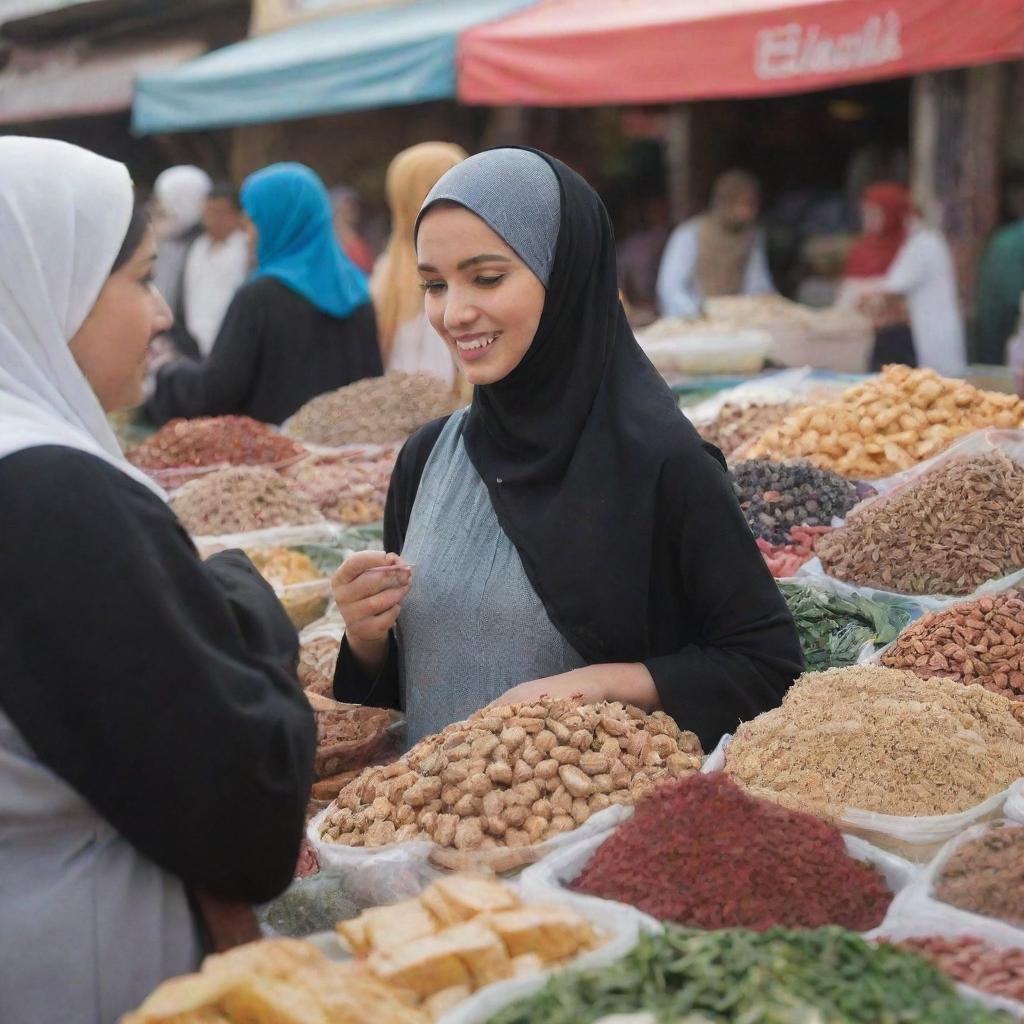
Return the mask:
<svg viewBox="0 0 1024 1024">
<path fill-rule="evenodd" d="M 488 150 L 464 160 L 430 189 L 423 215 L 442 200 L 475 213 L 548 287 L 555 261 L 561 199 L 551 166 L 528 150 Z"/>
</svg>

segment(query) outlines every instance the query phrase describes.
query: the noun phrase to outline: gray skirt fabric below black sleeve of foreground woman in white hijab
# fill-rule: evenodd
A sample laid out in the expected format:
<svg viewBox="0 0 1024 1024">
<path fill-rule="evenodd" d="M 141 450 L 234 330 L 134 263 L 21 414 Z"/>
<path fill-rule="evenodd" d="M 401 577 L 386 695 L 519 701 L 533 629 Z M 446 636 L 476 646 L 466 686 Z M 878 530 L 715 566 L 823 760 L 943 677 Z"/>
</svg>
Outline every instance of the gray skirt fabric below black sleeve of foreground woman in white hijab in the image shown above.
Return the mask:
<svg viewBox="0 0 1024 1024">
<path fill-rule="evenodd" d="M 0 941 L 4 1024 L 116 1024 L 203 952 L 182 884 L 40 763 L 3 712 Z"/>
</svg>

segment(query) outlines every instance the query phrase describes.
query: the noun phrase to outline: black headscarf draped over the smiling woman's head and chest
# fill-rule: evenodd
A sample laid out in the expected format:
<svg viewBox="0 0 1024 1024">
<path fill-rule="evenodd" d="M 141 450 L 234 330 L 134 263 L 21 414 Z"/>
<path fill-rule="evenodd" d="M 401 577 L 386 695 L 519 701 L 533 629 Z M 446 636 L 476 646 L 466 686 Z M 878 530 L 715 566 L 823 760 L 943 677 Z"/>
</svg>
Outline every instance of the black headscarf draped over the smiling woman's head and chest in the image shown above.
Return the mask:
<svg viewBox="0 0 1024 1024">
<path fill-rule="evenodd" d="M 589 662 L 640 660 L 658 480 L 702 442 L 626 319 L 604 204 L 538 156 L 561 194 L 544 311 L 519 366 L 475 389 L 466 449 L 559 632 Z"/>
</svg>

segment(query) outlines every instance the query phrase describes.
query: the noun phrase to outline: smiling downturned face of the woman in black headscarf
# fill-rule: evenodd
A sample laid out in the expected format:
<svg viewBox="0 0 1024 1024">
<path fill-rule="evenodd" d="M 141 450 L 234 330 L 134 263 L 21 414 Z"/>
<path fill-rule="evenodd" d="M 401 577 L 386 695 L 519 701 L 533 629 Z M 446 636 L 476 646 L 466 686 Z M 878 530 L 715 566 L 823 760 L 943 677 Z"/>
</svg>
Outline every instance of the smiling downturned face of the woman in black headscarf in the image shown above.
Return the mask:
<svg viewBox="0 0 1024 1024">
<path fill-rule="evenodd" d="M 503 380 L 534 342 L 544 285 L 475 213 L 431 210 L 417 239 L 426 312 L 473 385 Z"/>
</svg>

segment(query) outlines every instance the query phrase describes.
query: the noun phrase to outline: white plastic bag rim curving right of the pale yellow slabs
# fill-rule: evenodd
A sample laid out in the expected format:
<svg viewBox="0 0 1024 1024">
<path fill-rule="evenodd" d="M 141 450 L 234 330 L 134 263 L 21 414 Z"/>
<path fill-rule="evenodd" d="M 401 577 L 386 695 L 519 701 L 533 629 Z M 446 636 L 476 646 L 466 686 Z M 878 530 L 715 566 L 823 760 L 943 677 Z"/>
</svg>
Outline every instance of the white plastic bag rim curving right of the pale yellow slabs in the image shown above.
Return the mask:
<svg viewBox="0 0 1024 1024">
<path fill-rule="evenodd" d="M 564 900 L 550 899 L 547 902 L 564 902 Z M 575 904 L 575 909 L 592 925 L 608 935 L 609 939 L 597 949 L 592 949 L 565 967 L 555 970 L 586 971 L 609 967 L 622 959 L 637 944 L 641 926 L 636 911 L 630 907 L 607 900 L 595 900 L 586 907 Z M 439 1017 L 437 1024 L 485 1024 L 500 1010 L 540 991 L 554 973 L 554 970 L 545 971 L 530 978 L 499 981 L 494 985 L 487 985 L 465 1002 L 461 1002 Z"/>
</svg>

